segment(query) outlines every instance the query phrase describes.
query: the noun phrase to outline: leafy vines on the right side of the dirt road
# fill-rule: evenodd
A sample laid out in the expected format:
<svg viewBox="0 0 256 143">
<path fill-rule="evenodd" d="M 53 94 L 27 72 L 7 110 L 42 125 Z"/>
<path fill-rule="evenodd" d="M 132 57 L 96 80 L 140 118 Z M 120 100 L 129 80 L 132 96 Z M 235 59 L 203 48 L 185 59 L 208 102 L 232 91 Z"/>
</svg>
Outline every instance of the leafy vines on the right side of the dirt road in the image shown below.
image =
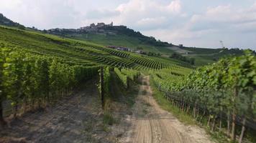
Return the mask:
<svg viewBox="0 0 256 143">
<path fill-rule="evenodd" d="M 218 126 L 219 132 L 225 130 L 232 140 L 240 133 L 242 142 L 245 129 L 256 129 L 255 69 L 255 54 L 247 51 L 244 56 L 221 59 L 186 76 L 170 70 L 153 72 L 152 79 L 182 112 L 191 113 L 198 122 L 207 117 L 212 131 Z"/>
</svg>

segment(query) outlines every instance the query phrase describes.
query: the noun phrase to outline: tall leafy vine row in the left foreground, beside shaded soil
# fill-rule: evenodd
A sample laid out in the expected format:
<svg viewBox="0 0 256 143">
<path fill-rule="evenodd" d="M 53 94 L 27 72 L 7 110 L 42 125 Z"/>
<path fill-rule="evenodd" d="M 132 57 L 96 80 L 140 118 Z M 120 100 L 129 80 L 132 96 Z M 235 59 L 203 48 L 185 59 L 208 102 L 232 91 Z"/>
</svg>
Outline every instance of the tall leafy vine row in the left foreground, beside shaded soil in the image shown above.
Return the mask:
<svg viewBox="0 0 256 143">
<path fill-rule="evenodd" d="M 70 65 L 61 59 L 19 49 L 1 49 L 1 55 L 6 55 L 5 60 L 1 59 L 1 90 L 16 110 L 21 104 L 34 106 L 35 102 L 42 104 L 67 96 L 99 69 Z"/>
</svg>

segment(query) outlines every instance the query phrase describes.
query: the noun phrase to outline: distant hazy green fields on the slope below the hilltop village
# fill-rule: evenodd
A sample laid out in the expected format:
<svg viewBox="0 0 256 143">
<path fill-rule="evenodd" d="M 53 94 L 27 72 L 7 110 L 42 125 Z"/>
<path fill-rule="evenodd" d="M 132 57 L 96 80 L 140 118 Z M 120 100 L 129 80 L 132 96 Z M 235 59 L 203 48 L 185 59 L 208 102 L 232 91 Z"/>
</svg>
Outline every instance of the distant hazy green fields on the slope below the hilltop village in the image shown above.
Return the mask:
<svg viewBox="0 0 256 143">
<path fill-rule="evenodd" d="M 142 49 L 146 52 L 159 53 L 163 57 L 169 57 L 177 52 L 183 56 L 188 56 L 196 59 L 196 66 L 202 66 L 208 63 L 213 63 L 224 56 L 241 55 L 242 51 L 239 49 L 206 49 L 194 47 L 179 47 L 179 46 L 155 46 L 154 44 L 145 44 L 144 41 L 138 39 L 136 36 L 129 36 L 127 34 L 60 34 L 61 36 L 91 41 L 93 43 L 104 46 L 126 46 L 130 49 Z M 186 54 L 186 53 L 189 54 Z"/>
</svg>

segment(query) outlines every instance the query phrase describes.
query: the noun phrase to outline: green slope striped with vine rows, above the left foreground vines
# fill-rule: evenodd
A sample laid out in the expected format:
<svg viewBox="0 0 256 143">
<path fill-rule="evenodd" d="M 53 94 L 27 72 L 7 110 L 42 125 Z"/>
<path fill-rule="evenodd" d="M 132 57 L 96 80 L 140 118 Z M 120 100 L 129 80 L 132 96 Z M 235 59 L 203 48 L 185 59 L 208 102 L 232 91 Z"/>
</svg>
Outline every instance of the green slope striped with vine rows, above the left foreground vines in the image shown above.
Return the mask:
<svg viewBox="0 0 256 143">
<path fill-rule="evenodd" d="M 57 56 L 67 62 L 86 66 L 108 65 L 131 69 L 163 69 L 177 66 L 193 68 L 190 64 L 177 60 L 118 51 L 86 41 L 4 26 L 0 26 L 0 44 L 35 54 Z"/>
</svg>

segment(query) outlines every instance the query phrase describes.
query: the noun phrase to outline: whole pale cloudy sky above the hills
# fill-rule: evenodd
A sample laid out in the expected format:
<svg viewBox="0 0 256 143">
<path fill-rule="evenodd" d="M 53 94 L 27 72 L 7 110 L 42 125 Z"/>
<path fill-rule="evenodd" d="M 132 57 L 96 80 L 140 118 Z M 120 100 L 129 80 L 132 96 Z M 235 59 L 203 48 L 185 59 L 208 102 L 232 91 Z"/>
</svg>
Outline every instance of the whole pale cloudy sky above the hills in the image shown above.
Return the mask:
<svg viewBox="0 0 256 143">
<path fill-rule="evenodd" d="M 256 0 L 0 0 L 0 13 L 38 29 L 113 21 L 173 44 L 256 50 Z"/>
</svg>

